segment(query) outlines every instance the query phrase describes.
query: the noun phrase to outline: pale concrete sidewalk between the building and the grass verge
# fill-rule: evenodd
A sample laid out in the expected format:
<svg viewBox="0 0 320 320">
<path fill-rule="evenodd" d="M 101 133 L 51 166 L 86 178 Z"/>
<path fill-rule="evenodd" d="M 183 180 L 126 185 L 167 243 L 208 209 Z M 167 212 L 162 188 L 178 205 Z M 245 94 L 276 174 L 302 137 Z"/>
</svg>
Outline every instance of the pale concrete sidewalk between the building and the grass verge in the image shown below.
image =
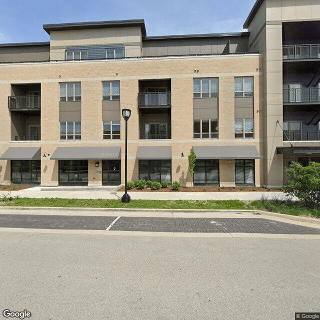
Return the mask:
<svg viewBox="0 0 320 320">
<path fill-rule="evenodd" d="M 0 191 L 1 194 L 6 194 L 8 191 Z M 66 189 L 63 186 L 54 187 L 54 190 L 49 188 L 31 187 L 28 189 L 12 191 L 11 195 L 29 198 L 80 198 L 80 199 L 120 199 L 123 191 L 109 191 L 106 189 L 94 190 L 81 189 L 74 187 L 72 190 Z M 239 199 L 244 201 L 256 200 L 264 197 L 266 199 L 285 199 L 287 198 L 283 192 L 137 192 L 128 190 L 131 199 L 145 200 L 232 200 Z"/>
</svg>

